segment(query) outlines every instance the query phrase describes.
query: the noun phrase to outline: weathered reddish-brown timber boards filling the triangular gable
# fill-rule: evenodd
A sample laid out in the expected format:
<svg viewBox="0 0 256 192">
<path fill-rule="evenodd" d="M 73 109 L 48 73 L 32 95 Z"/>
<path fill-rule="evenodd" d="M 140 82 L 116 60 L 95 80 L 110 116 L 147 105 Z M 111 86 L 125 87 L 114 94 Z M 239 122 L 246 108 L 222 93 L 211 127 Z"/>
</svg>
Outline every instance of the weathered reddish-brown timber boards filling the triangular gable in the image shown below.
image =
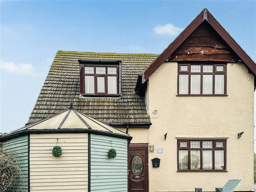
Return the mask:
<svg viewBox="0 0 256 192">
<path fill-rule="evenodd" d="M 201 23 L 169 56 L 168 61 L 227 61 L 239 58 L 207 22 Z"/>
</svg>

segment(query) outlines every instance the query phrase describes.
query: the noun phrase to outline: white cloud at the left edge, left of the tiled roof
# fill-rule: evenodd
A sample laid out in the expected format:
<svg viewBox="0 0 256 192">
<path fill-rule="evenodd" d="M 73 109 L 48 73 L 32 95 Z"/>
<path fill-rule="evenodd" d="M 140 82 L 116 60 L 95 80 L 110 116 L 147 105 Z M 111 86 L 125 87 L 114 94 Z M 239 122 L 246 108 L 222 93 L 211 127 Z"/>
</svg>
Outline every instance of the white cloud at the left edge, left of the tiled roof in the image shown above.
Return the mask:
<svg viewBox="0 0 256 192">
<path fill-rule="evenodd" d="M 23 73 L 28 76 L 36 76 L 36 69 L 32 64 L 15 64 L 14 62 L 1 62 L 1 70 L 5 70 L 9 73 Z"/>
</svg>

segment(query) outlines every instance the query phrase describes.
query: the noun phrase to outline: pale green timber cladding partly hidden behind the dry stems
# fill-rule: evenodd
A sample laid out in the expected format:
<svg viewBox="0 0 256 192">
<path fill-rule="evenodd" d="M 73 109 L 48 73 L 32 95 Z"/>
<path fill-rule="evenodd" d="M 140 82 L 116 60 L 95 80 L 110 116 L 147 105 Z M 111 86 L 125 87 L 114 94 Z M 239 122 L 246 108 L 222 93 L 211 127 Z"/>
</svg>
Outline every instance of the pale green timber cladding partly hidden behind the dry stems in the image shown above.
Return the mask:
<svg viewBox="0 0 256 192">
<path fill-rule="evenodd" d="M 14 191 L 27 192 L 28 191 L 28 135 L 15 137 L 10 140 L 3 141 L 3 149 L 13 151 L 19 156 L 19 167 L 24 175 L 24 183 L 17 182 L 14 186 Z M 17 177 L 17 181 L 20 178 Z M 21 188 L 21 189 L 20 189 Z"/>
</svg>

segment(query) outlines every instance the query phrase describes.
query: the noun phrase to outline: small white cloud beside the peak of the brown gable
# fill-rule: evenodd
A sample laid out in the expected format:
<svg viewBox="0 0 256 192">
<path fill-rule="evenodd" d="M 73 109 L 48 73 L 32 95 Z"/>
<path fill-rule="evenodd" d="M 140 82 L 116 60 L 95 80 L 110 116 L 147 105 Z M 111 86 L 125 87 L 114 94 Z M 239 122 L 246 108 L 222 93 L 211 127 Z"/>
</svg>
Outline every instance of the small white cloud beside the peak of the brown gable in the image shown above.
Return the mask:
<svg viewBox="0 0 256 192">
<path fill-rule="evenodd" d="M 179 28 L 179 27 L 176 27 L 174 26 L 173 24 L 171 23 L 167 23 L 165 25 L 159 25 L 159 26 L 156 26 L 154 28 L 154 32 L 156 34 L 160 34 L 160 35 L 178 35 L 183 29 L 182 28 Z"/>
</svg>

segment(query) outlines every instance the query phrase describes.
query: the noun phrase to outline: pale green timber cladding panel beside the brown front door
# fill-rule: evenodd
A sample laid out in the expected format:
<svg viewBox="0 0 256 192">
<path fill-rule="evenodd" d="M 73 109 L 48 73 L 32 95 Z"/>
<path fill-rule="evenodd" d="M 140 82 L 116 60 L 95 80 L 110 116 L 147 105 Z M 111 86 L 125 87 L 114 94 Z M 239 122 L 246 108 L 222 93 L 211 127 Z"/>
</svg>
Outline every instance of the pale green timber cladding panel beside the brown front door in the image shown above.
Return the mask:
<svg viewBox="0 0 256 192">
<path fill-rule="evenodd" d="M 90 135 L 90 191 L 127 192 L 127 140 Z M 116 149 L 116 158 L 108 158 L 108 150 Z"/>
</svg>

